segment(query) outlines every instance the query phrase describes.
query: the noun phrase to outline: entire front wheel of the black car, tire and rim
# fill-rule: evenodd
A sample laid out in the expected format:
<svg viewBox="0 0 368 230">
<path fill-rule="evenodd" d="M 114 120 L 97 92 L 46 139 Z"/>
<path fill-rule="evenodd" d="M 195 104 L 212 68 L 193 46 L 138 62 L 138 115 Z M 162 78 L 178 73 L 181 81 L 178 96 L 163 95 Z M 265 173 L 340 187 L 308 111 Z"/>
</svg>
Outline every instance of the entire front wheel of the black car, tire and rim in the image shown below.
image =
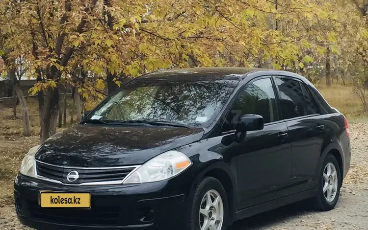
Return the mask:
<svg viewBox="0 0 368 230">
<path fill-rule="evenodd" d="M 210 204 L 207 203 L 209 197 L 211 199 Z M 223 185 L 216 178 L 204 178 L 195 187 L 191 198 L 192 199 L 189 199 L 191 203 L 188 210 L 189 221 L 185 226 L 185 230 L 207 230 L 205 228 L 207 223 L 211 225 L 214 224 L 214 226 L 216 226 L 214 228 L 215 230 L 227 229 L 229 215 L 227 195 Z M 206 214 L 204 214 L 204 212 L 206 212 Z"/>
</svg>

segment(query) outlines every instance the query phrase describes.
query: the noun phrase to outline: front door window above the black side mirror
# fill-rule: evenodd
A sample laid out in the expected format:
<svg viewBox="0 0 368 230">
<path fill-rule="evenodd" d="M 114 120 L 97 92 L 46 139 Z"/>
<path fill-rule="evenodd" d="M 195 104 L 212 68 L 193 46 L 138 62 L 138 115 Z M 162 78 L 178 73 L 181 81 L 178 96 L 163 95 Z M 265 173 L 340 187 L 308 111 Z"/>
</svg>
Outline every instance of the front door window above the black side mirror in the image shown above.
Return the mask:
<svg viewBox="0 0 368 230">
<path fill-rule="evenodd" d="M 234 121 L 245 114 L 262 115 L 264 123 L 279 120 L 275 92 L 271 78 L 256 80 L 248 85 L 237 97 L 232 110 L 229 112 L 221 131 L 234 130 Z"/>
</svg>

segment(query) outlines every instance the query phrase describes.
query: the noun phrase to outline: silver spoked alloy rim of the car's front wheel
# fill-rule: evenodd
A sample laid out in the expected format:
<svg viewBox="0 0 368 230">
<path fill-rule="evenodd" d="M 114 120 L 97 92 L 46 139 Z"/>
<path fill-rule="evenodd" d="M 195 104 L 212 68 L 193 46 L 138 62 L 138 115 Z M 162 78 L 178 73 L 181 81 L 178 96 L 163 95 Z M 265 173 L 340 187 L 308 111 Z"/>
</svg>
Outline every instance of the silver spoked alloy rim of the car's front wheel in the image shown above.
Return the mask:
<svg viewBox="0 0 368 230">
<path fill-rule="evenodd" d="M 201 230 L 221 230 L 224 219 L 224 205 L 216 190 L 209 190 L 203 197 L 199 209 Z"/>
</svg>

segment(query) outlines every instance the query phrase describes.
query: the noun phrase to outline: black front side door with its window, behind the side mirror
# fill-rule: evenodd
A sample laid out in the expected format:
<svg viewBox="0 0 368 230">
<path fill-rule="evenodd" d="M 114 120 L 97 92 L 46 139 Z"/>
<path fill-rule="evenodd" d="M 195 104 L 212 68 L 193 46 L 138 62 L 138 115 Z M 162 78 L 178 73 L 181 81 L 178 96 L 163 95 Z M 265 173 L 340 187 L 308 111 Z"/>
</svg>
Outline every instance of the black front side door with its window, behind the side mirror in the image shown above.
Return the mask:
<svg viewBox="0 0 368 230">
<path fill-rule="evenodd" d="M 233 142 L 226 155 L 237 172 L 238 210 L 277 199 L 290 184 L 291 144 L 288 128 L 280 120 L 271 77 L 257 78 L 241 90 L 222 131 L 235 130 L 240 115 L 257 114 L 264 128 L 247 132 L 240 143 Z"/>
</svg>

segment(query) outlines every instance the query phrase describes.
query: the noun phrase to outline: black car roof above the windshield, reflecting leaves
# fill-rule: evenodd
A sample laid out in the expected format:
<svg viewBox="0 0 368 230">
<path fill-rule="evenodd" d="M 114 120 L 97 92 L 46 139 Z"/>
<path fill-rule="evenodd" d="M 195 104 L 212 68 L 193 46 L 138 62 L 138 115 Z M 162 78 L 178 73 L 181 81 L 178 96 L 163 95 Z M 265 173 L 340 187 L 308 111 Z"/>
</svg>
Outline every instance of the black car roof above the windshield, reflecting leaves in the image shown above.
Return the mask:
<svg viewBox="0 0 368 230">
<path fill-rule="evenodd" d="M 271 70 L 240 67 L 207 67 L 207 68 L 186 68 L 159 70 L 139 77 L 139 79 L 162 79 L 162 80 L 242 80 L 247 73 L 254 71 Z"/>
</svg>

